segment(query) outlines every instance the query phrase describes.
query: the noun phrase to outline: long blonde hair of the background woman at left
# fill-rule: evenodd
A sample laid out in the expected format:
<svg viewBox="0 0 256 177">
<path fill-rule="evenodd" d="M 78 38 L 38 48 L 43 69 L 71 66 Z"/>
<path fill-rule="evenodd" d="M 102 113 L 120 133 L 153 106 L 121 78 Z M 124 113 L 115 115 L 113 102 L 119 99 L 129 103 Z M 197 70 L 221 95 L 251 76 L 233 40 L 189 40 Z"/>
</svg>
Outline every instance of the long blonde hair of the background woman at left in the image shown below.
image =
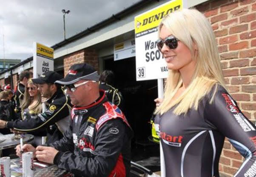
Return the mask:
<svg viewBox="0 0 256 177">
<path fill-rule="evenodd" d="M 33 85 L 37 87 L 37 85 L 34 84 L 31 79 L 28 80 L 27 85 Z M 42 111 L 42 101 L 41 101 L 40 91 L 37 91 L 36 97 L 37 97 L 37 103 L 29 109 L 29 111 L 32 113 L 40 113 Z M 24 111 L 26 108 L 28 108 L 32 100 L 33 100 L 33 97 L 29 95 L 28 90 L 26 89 L 24 93 L 24 99 L 20 104 L 21 111 Z"/>
</svg>

